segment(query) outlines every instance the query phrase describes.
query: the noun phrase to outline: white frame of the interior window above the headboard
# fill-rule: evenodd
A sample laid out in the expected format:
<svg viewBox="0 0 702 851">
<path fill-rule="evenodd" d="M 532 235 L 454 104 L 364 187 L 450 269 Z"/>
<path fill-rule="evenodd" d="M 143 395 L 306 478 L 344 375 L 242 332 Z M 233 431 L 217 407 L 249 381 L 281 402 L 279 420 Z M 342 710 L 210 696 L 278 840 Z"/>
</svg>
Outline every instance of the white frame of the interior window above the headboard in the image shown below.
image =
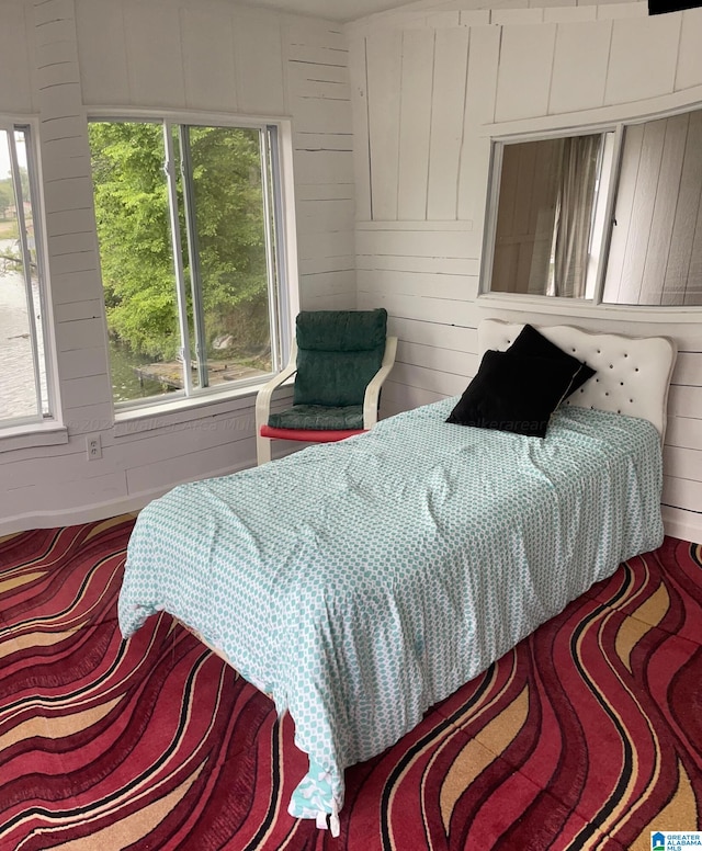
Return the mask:
<svg viewBox="0 0 702 851">
<path fill-rule="evenodd" d="M 553 126 L 550 120 L 546 126 L 535 129 L 520 129 L 511 133 L 500 132 L 500 125 L 486 128 L 489 133 L 489 164 L 487 172 L 486 208 L 482 238 L 480 268 L 477 284 L 478 303 L 495 303 L 502 309 L 531 309 L 544 314 L 561 314 L 564 310 L 582 317 L 602 316 L 603 310 L 612 314 L 626 314 L 627 317 L 638 315 L 645 321 L 698 322 L 702 318 L 702 305 L 656 305 L 656 304 L 618 304 L 602 300 L 604 280 L 607 276 L 610 247 L 614 227 L 618 190 L 622 169 L 626 128 L 635 125 L 669 118 L 689 112 L 702 110 L 702 102 L 687 103 L 672 109 L 657 109 L 646 114 L 624 116 L 618 120 Z M 522 126 L 529 122 L 521 122 Z M 551 125 L 551 126 L 548 126 Z M 591 133 L 613 133 L 612 163 L 604 205 L 604 229 L 600 246 L 600 260 L 592 298 L 573 298 L 568 296 L 535 295 L 520 293 L 500 293 L 490 291 L 495 237 L 498 217 L 498 201 L 501 173 L 501 151 L 507 144 L 539 141 L 542 139 L 571 137 Z M 567 306 L 567 307 L 566 307 Z"/>
</svg>

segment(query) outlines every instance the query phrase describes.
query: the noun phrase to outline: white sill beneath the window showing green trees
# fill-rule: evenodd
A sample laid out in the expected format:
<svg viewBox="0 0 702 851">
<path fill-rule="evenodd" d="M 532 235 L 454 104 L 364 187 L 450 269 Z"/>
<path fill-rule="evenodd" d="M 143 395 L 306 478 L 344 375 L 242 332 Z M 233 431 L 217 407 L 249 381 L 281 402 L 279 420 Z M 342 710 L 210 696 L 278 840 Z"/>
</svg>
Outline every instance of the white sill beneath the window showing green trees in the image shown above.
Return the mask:
<svg viewBox="0 0 702 851">
<path fill-rule="evenodd" d="M 180 397 L 117 411 L 112 433 L 115 438 L 124 438 L 158 429 L 171 429 L 185 422 L 220 417 L 237 410 L 251 409 L 256 405 L 256 397 L 261 387 L 263 384 L 248 385 L 230 390 L 226 396 L 217 394 L 196 398 L 192 396 L 190 398 Z M 287 393 L 292 393 L 292 381 L 290 384 L 283 384 L 282 393 L 283 397 Z"/>
</svg>

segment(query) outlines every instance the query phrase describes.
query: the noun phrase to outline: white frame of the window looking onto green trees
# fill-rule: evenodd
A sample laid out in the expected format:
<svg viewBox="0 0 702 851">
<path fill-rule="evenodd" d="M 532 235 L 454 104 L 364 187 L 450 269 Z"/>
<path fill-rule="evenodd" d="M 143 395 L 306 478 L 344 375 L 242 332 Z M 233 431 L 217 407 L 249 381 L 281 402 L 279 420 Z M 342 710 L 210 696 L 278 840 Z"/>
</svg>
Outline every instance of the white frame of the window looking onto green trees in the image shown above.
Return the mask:
<svg viewBox="0 0 702 851">
<path fill-rule="evenodd" d="M 258 388 L 270 381 L 287 363 L 290 356 L 291 341 L 294 337 L 294 320 L 299 310 L 299 283 L 297 273 L 297 251 L 296 251 L 296 220 L 295 220 L 295 192 L 293 180 L 293 141 L 292 123 L 290 118 L 281 116 L 253 116 L 253 115 L 233 115 L 210 112 L 193 111 L 173 111 L 168 109 L 110 109 L 110 107 L 90 107 L 87 114 L 88 123 L 91 122 L 141 122 L 161 125 L 165 136 L 165 149 L 168 152 L 165 171 L 168 175 L 169 194 L 169 218 L 171 240 L 180 241 L 180 229 L 174 227 L 172 217 L 178 217 L 178 209 L 171 202 L 171 193 L 174 194 L 176 183 L 170 179 L 169 171 L 176 171 L 178 163 L 173 157 L 172 137 L 170 129 L 174 128 L 182 138 L 182 131 L 188 127 L 222 127 L 222 128 L 242 128 L 258 129 L 267 138 L 268 155 L 270 156 L 274 171 L 273 192 L 274 202 L 272 203 L 272 222 L 275 229 L 275 285 L 272 284 L 272 270 L 270 264 L 269 227 L 267 226 L 267 273 L 269 279 L 269 318 L 271 309 L 275 313 L 275 318 L 271 321 L 271 360 L 272 368 L 270 373 L 250 378 L 242 378 L 228 383 L 226 386 L 197 386 L 185 387 L 172 393 L 165 393 L 159 396 L 149 396 L 139 399 L 112 400 L 114 410 L 115 426 L 128 420 L 141 420 L 150 418 L 154 415 L 162 412 L 167 416 L 177 413 L 180 410 L 196 409 L 202 406 L 216 405 L 226 399 L 236 399 L 242 396 L 251 396 L 258 392 Z M 262 157 L 262 162 L 265 160 Z M 183 181 L 183 188 L 186 181 Z M 268 170 L 262 168 L 262 189 L 264 204 L 269 195 Z M 182 212 L 189 216 L 189 203 L 183 193 Z M 269 198 L 270 201 L 270 198 Z M 264 209 L 264 216 L 268 212 Z M 174 270 L 178 269 L 179 277 L 182 277 L 182 254 L 174 252 Z M 99 258 L 100 262 L 100 258 Z M 102 275 L 101 275 L 102 277 Z M 178 300 L 179 331 L 181 334 L 181 352 L 184 359 L 190 358 L 190 338 L 186 331 L 186 315 L 182 309 L 184 305 L 184 281 L 173 281 L 176 298 Z M 271 300 L 271 294 L 274 300 Z M 273 306 L 273 307 L 272 307 Z M 195 325 L 196 328 L 196 325 Z M 182 344 L 184 342 L 184 345 Z M 188 360 L 185 360 L 188 362 Z M 109 367 L 110 368 L 110 367 Z M 183 371 L 184 382 L 191 384 L 191 376 L 188 370 Z M 111 372 L 109 372 L 110 382 Z M 158 428 L 158 422 L 151 423 L 152 428 Z"/>
</svg>

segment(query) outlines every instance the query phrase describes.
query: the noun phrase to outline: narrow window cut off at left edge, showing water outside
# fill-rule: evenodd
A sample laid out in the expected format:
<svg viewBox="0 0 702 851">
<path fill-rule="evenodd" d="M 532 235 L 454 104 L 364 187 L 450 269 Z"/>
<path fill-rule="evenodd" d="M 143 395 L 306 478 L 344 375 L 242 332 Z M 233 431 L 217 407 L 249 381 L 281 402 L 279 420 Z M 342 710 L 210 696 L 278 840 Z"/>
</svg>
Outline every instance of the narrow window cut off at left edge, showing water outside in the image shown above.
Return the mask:
<svg viewBox="0 0 702 851">
<path fill-rule="evenodd" d="M 50 416 L 30 127 L 0 121 L 0 427 Z"/>
</svg>

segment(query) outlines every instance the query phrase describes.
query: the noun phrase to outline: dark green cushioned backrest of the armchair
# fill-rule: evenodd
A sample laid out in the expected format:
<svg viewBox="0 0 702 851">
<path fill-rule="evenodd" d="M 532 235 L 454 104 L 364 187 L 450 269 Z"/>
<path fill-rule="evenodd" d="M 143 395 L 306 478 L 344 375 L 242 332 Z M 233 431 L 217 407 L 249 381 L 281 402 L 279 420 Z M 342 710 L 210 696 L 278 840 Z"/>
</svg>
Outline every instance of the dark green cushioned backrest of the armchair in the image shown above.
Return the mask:
<svg viewBox="0 0 702 851">
<path fill-rule="evenodd" d="M 380 370 L 387 310 L 303 310 L 296 319 L 297 374 L 293 402 L 362 405 Z"/>
</svg>

